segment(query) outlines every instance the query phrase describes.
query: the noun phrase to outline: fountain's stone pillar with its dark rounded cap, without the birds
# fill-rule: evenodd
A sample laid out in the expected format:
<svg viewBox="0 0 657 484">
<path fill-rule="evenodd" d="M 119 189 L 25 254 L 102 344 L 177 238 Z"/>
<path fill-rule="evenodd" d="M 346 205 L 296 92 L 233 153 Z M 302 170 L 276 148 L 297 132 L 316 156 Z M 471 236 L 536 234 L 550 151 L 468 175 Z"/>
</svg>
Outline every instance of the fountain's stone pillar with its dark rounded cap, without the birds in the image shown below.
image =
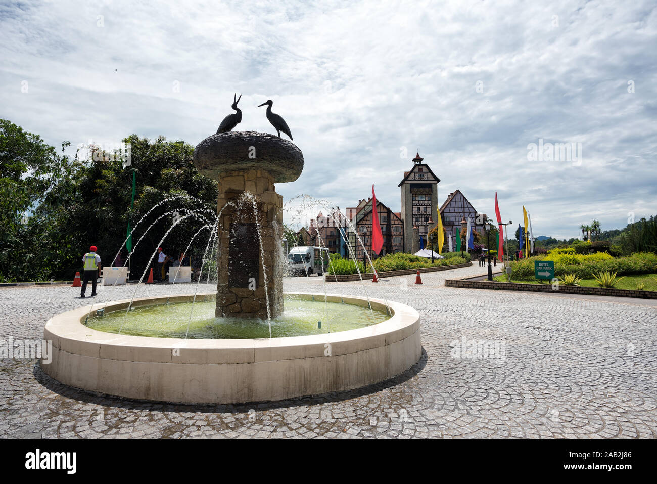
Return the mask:
<svg viewBox="0 0 657 484">
<path fill-rule="evenodd" d="M 300 176 L 301 150 L 266 133 L 217 133 L 198 143 L 194 165 L 219 182 L 216 315 L 275 318 L 283 312 L 286 254 L 283 197 L 274 183 Z"/>
</svg>

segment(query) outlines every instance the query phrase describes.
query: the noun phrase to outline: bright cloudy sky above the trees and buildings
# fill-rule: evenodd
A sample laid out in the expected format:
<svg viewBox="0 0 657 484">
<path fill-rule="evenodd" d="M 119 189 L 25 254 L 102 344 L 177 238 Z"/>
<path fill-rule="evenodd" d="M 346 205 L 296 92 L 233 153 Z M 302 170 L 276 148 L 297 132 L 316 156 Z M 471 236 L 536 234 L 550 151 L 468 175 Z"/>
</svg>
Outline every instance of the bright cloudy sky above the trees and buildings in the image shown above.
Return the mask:
<svg viewBox="0 0 657 484">
<path fill-rule="evenodd" d="M 657 3 L 544 4 L 5 0 L 0 117 L 55 146 L 196 145 L 237 91 L 237 129 L 275 133 L 257 107 L 273 99 L 304 152 L 284 199 L 344 208 L 374 183 L 399 210 L 419 151 L 440 203 L 461 189 L 494 217 L 497 191 L 503 219 L 525 205 L 534 235 L 657 214 Z"/>
</svg>

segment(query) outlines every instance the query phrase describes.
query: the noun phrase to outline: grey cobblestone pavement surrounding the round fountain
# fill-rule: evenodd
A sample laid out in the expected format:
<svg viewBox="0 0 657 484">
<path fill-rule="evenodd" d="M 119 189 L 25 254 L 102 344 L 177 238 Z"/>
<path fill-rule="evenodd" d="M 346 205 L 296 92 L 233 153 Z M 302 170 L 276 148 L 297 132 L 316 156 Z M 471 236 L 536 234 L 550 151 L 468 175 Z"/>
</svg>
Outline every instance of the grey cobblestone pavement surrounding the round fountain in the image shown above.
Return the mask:
<svg viewBox="0 0 657 484">
<path fill-rule="evenodd" d="M 327 283 L 328 293 L 388 297 L 419 310 L 422 358 L 354 391 L 282 402 L 194 406 L 119 399 L 65 387 L 36 360 L 0 360 L 0 437 L 656 437 L 654 301 L 444 287 L 478 266 Z M 323 293 L 321 278 L 286 291 Z M 143 286 L 139 296 L 190 293 Z M 212 285 L 200 287 L 211 291 Z M 134 286 L 76 299 L 71 287 L 0 289 L 0 339 L 40 339 L 48 318 L 129 297 Z M 457 358 L 453 341 L 504 342 L 493 358 Z M 498 347 L 501 349 L 501 347 Z M 485 356 L 485 355 L 484 355 Z"/>
</svg>

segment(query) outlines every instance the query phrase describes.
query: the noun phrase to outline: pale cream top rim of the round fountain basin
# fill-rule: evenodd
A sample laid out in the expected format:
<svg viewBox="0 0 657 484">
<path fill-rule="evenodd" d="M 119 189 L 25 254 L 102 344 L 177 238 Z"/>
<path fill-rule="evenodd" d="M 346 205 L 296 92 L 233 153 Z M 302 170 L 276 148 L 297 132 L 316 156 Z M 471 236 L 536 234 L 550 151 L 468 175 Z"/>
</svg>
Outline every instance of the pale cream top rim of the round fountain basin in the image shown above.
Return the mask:
<svg viewBox="0 0 657 484">
<path fill-rule="evenodd" d="M 285 293 L 304 299 L 324 302 L 325 295 L 313 293 Z M 193 295 L 168 297 L 145 297 L 135 299 L 134 306 L 191 301 Z M 215 297 L 215 293 L 196 295 L 196 301 Z M 362 297 L 327 295 L 329 303 L 356 304 L 367 306 Z M 51 318 L 43 330 L 46 341 L 60 351 L 112 360 L 141 362 L 172 362 L 230 364 L 262 362 L 271 360 L 291 360 L 324 356 L 330 347 L 330 354 L 339 355 L 367 351 L 401 341 L 419 331 L 420 316 L 417 310 L 405 304 L 381 299 L 369 299 L 374 309 L 386 311 L 389 306 L 392 316 L 378 324 L 324 333 L 271 339 L 179 339 L 158 338 L 106 333 L 84 326 L 83 321 L 95 310 L 105 308 L 106 312 L 127 308 L 129 300 L 111 303 L 96 303 L 57 314 Z M 327 346 L 329 345 L 329 346 Z"/>
</svg>

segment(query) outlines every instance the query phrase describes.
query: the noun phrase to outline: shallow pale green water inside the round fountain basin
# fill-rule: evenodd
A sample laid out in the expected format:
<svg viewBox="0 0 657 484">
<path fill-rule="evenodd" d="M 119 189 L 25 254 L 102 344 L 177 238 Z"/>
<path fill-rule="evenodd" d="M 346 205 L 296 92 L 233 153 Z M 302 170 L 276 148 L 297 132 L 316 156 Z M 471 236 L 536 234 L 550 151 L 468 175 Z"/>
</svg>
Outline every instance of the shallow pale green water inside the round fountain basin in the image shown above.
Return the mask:
<svg viewBox="0 0 657 484">
<path fill-rule="evenodd" d="M 157 338 L 184 338 L 192 303 L 139 306 L 89 318 L 87 326 L 99 331 Z M 267 320 L 215 318 L 215 301 L 196 302 L 189 325 L 191 339 L 268 338 Z M 284 311 L 271 321 L 271 337 L 319 335 L 371 326 L 390 318 L 386 312 L 355 304 L 284 298 Z M 321 328 L 317 324 L 321 321 Z"/>
</svg>

